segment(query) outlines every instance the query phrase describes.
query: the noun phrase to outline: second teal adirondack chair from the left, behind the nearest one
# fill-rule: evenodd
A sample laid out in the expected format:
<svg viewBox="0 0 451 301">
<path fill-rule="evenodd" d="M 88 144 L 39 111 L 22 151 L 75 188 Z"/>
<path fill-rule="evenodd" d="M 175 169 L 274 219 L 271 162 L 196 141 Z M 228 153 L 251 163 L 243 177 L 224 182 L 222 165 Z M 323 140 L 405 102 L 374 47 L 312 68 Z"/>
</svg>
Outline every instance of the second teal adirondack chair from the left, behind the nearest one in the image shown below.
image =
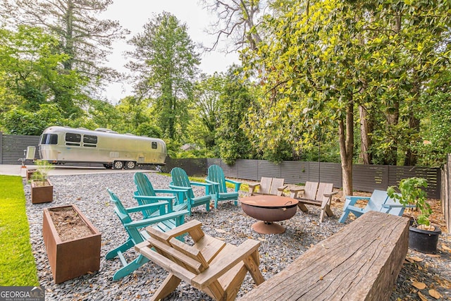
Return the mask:
<svg viewBox="0 0 451 301">
<path fill-rule="evenodd" d="M 152 183 L 150 183 L 149 178 L 147 178 L 147 176 L 144 173 L 140 172 L 135 173 L 134 178 L 136 185 L 134 198 L 137 200 L 138 204 L 140 205 L 152 204 L 153 202 L 166 200 L 171 203 L 169 204 L 169 206 L 173 211 L 187 209 L 187 202 L 183 202 L 185 190 L 154 189 Z M 157 193 L 164 193 L 166 195 L 157 195 Z M 143 212 L 143 216 L 144 217 L 152 216 L 155 210 L 157 209 L 146 210 Z"/>
</svg>

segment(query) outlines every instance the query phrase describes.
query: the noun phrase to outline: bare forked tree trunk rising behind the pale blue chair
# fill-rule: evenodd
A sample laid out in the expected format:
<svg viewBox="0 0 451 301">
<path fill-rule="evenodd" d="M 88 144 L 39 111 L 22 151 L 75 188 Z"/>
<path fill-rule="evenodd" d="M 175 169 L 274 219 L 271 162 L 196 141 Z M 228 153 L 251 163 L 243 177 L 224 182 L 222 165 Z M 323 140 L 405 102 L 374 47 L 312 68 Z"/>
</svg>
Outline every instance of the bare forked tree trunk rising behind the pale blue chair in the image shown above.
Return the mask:
<svg viewBox="0 0 451 301">
<path fill-rule="evenodd" d="M 346 109 L 346 124 L 342 119 L 338 121 L 338 140 L 340 142 L 343 195 L 352 195 L 352 154 L 354 150 L 353 109 L 353 102 L 348 102 Z"/>
</svg>

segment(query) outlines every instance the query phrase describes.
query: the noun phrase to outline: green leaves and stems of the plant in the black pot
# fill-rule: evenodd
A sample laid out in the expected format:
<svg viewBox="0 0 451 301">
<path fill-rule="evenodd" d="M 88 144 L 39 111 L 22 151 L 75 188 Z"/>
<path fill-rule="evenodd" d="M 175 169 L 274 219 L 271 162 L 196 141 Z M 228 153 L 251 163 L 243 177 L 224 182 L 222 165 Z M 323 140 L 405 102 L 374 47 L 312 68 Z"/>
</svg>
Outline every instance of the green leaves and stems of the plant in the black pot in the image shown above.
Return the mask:
<svg viewBox="0 0 451 301">
<path fill-rule="evenodd" d="M 424 188 L 428 187 L 428 183 L 424 178 L 405 178 L 400 181 L 396 188 L 400 193 L 395 191 L 394 186 L 387 189 L 389 197 L 403 205 L 415 205 L 419 210 L 419 215 L 414 217 L 414 226 L 430 226 L 429 216 L 432 214 L 431 205 L 426 202 L 426 191 Z"/>
</svg>

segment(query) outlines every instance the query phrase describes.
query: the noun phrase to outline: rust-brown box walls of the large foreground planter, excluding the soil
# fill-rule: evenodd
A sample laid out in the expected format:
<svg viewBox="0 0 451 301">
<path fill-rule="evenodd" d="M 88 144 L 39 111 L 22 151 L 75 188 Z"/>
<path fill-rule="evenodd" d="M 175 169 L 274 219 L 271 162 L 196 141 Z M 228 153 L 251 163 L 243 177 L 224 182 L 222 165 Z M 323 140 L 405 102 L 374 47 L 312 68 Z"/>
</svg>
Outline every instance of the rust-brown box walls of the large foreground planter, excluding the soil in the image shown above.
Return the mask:
<svg viewBox="0 0 451 301">
<path fill-rule="evenodd" d="M 74 214 L 80 216 L 92 234 L 63 241 L 56 231 L 50 211 L 71 209 Z M 42 235 L 55 283 L 61 283 L 100 269 L 101 233 L 75 205 L 44 209 Z"/>
</svg>

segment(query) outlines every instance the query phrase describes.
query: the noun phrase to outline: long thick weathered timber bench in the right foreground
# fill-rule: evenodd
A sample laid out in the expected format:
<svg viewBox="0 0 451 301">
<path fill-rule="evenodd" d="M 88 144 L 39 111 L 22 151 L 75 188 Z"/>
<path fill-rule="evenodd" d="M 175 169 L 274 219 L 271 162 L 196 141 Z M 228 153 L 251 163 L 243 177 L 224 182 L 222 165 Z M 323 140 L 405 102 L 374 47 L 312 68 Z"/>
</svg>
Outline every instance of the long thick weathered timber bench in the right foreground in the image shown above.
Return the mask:
<svg viewBox="0 0 451 301">
<path fill-rule="evenodd" d="M 369 211 L 240 300 L 389 300 L 408 240 L 409 219 Z"/>
</svg>

